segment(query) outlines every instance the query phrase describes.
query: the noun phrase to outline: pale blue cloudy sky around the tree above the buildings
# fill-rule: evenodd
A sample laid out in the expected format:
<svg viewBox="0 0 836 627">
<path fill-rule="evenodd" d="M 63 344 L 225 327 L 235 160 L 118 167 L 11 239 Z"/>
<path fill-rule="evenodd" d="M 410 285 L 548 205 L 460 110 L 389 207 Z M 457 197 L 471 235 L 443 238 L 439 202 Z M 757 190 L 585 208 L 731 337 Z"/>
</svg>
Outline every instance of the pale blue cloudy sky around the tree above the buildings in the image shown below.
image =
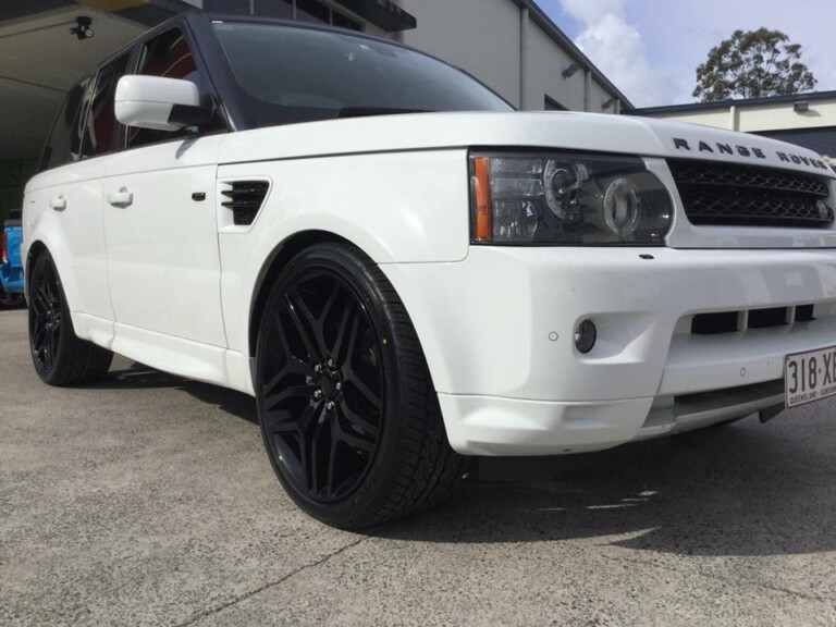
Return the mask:
<svg viewBox="0 0 836 627">
<path fill-rule="evenodd" d="M 697 65 L 736 28 L 801 44 L 801 61 L 836 89 L 836 0 L 538 0 L 637 107 L 692 102 Z"/>
</svg>

